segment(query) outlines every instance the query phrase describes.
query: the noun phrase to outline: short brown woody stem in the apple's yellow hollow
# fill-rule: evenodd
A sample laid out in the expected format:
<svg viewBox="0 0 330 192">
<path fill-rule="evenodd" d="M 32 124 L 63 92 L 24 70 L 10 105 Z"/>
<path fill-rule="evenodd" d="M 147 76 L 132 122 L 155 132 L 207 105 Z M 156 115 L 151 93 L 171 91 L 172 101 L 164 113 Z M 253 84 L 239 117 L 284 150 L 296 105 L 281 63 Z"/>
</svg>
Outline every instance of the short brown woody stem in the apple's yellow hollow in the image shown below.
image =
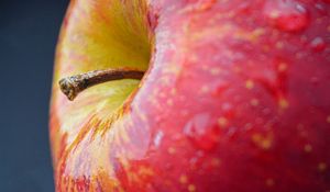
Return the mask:
<svg viewBox="0 0 330 192">
<path fill-rule="evenodd" d="M 94 70 L 86 74 L 75 75 L 59 80 L 59 88 L 68 100 L 73 101 L 81 91 L 102 82 L 138 79 L 141 80 L 144 71 L 131 68 Z"/>
</svg>

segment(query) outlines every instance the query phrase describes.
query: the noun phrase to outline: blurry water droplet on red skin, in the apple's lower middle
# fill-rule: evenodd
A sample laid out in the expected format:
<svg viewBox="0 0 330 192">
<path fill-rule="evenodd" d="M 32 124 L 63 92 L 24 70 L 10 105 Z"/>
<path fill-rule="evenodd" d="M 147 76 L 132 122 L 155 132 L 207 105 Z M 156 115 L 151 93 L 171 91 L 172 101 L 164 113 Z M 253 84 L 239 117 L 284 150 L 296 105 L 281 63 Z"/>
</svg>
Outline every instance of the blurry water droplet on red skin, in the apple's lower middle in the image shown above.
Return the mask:
<svg viewBox="0 0 330 192">
<path fill-rule="evenodd" d="M 219 142 L 220 128 L 208 113 L 195 115 L 184 127 L 184 134 L 204 150 L 212 150 Z"/>
</svg>

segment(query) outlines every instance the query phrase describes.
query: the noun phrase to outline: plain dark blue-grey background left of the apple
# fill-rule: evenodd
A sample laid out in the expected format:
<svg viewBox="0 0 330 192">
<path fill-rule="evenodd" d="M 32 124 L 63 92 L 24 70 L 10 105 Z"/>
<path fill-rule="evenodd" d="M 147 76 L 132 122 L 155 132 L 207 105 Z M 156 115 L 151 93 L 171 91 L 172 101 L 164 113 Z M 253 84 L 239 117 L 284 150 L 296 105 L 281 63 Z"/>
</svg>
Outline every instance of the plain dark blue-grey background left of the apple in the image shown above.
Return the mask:
<svg viewBox="0 0 330 192">
<path fill-rule="evenodd" d="M 0 191 L 52 192 L 48 102 L 67 0 L 0 0 Z"/>
</svg>

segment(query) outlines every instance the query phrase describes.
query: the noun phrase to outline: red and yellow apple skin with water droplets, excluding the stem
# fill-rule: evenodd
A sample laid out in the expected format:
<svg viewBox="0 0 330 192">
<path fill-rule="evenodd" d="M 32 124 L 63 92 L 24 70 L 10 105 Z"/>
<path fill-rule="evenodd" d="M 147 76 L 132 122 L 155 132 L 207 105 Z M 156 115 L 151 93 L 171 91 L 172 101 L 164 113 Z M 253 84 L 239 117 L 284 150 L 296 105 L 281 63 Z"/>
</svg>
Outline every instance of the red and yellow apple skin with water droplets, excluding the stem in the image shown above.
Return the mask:
<svg viewBox="0 0 330 192">
<path fill-rule="evenodd" d="M 56 191 L 329 192 L 329 44 L 327 0 L 72 1 L 51 104 Z M 59 78 L 120 66 L 148 68 L 139 89 L 59 92 Z"/>
</svg>

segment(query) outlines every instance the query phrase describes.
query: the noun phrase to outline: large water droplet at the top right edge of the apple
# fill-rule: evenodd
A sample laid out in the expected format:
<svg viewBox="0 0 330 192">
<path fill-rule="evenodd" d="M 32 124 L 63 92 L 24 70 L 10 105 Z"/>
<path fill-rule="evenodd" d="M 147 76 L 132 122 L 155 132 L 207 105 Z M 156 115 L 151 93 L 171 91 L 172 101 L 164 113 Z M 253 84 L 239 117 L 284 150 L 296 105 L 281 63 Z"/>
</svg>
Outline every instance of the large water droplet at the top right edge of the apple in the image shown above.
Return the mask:
<svg viewBox="0 0 330 192">
<path fill-rule="evenodd" d="M 271 24 L 286 32 L 301 31 L 309 23 L 306 8 L 294 0 L 268 0 L 264 14 Z"/>
</svg>

